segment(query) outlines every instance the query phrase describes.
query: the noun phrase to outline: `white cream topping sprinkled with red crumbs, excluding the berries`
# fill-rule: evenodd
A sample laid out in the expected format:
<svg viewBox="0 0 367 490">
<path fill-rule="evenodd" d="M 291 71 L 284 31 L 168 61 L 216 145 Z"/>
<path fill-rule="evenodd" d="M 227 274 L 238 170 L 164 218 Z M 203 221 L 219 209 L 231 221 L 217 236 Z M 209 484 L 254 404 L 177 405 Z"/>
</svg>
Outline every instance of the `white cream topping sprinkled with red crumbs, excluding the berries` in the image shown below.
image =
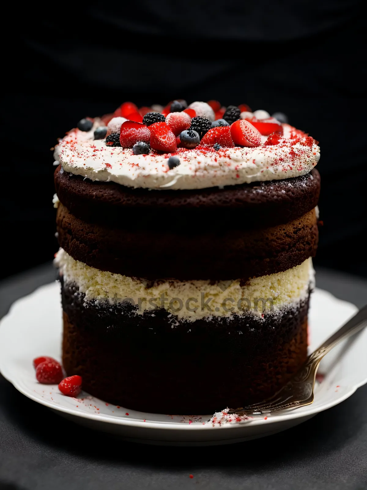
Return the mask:
<svg viewBox="0 0 367 490">
<path fill-rule="evenodd" d="M 146 189 L 205 189 L 251 182 L 298 177 L 318 163 L 320 148 L 302 132 L 283 124 L 280 143 L 259 147 L 178 148 L 181 164 L 169 170 L 171 153 L 134 155 L 132 148 L 108 147 L 105 140 L 93 140 L 91 131 L 71 130 L 55 147 L 54 157 L 66 172 L 91 180 L 116 182 Z"/>
</svg>

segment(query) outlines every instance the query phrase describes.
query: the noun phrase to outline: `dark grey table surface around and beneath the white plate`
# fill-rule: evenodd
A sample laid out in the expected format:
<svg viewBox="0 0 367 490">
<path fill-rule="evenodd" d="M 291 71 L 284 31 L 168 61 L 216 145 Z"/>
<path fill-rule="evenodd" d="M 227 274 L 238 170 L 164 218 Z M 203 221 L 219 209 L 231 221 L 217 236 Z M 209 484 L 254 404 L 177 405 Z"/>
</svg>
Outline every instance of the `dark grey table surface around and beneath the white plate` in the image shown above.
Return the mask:
<svg viewBox="0 0 367 490">
<path fill-rule="evenodd" d="M 45 264 L 0 283 L 0 316 L 15 299 L 54 277 Z M 317 286 L 359 307 L 367 303 L 363 279 L 320 269 Z M 367 386 L 298 427 L 264 439 L 161 447 L 79 427 L 0 376 L 0 489 L 102 488 L 366 489 Z"/>
</svg>

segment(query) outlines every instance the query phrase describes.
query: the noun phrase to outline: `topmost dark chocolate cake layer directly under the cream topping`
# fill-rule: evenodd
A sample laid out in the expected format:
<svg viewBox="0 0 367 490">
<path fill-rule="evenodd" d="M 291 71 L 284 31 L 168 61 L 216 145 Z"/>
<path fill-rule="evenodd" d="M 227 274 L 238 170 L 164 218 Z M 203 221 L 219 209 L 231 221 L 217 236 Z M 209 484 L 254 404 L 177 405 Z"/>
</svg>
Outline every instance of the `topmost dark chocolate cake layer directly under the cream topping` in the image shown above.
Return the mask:
<svg viewBox="0 0 367 490">
<path fill-rule="evenodd" d="M 60 169 L 54 173 L 56 193 L 74 216 L 131 229 L 186 226 L 195 233 L 213 221 L 240 229 L 273 226 L 313 209 L 320 194 L 316 169 L 292 179 L 186 191 L 132 189 Z"/>
</svg>

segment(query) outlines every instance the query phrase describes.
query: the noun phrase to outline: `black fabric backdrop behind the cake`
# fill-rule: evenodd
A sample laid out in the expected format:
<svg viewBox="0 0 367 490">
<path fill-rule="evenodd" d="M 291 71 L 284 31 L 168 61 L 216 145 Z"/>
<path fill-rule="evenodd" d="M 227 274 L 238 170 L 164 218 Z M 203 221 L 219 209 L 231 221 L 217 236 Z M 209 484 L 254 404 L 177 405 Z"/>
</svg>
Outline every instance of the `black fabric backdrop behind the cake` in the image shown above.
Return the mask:
<svg viewBox="0 0 367 490">
<path fill-rule="evenodd" d="M 1 105 L 7 258 L 1 276 L 51 260 L 57 250 L 49 150 L 56 138 L 125 100 L 165 105 L 174 98 L 282 111 L 319 140 L 324 226 L 315 262 L 367 276 L 361 5 L 213 0 L 19 7 L 6 45 Z"/>
</svg>

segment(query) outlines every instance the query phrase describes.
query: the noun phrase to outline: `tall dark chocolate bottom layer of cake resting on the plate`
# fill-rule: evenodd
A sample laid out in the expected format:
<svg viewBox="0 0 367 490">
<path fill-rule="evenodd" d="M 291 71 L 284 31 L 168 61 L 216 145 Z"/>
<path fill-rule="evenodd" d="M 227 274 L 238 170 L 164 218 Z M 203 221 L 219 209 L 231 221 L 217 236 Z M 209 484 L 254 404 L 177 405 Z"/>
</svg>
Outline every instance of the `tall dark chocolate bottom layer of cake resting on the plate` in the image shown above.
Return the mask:
<svg viewBox="0 0 367 490">
<path fill-rule="evenodd" d="M 211 414 L 276 392 L 307 356 L 308 299 L 263 319 L 180 322 L 62 286 L 63 365 L 85 391 L 144 412 Z M 85 306 L 86 305 L 86 306 Z"/>
</svg>

